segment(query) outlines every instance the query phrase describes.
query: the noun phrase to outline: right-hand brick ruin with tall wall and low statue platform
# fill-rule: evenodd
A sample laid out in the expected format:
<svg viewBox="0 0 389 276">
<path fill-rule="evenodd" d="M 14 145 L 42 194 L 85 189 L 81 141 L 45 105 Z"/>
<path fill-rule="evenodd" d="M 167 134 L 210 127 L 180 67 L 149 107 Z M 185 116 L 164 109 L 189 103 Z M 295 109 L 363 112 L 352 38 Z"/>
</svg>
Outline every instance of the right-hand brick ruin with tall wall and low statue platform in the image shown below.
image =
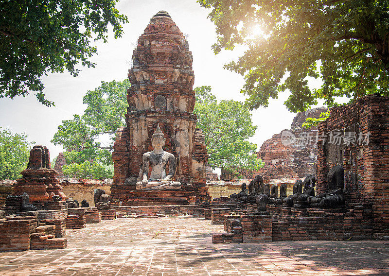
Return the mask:
<svg viewBox="0 0 389 276">
<path fill-rule="evenodd" d="M 316 193 L 308 176 L 289 197 L 265 184 L 254 203 L 246 187 L 241 197 L 213 199 L 197 209 L 224 224 L 213 242 L 389 239 L 389 98 L 372 94 L 330 111 L 318 125 Z"/>
</svg>

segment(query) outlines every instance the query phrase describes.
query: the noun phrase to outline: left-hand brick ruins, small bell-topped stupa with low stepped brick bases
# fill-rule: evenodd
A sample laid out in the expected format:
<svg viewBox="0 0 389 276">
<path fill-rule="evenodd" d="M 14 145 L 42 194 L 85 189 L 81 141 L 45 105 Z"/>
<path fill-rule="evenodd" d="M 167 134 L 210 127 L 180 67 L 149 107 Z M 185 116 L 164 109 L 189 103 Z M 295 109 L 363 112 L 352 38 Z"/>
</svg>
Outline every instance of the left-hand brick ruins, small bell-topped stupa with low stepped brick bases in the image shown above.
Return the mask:
<svg viewBox="0 0 389 276">
<path fill-rule="evenodd" d="M 98 210 L 89 204 L 79 207 L 78 202 L 66 198 L 45 146 L 31 149 L 21 174 L 16 182 L 8 181 L 13 189 L 1 198 L 5 206 L 0 209 L 0 252 L 63 249 L 68 245 L 66 229 L 116 219 L 114 209 Z"/>
</svg>

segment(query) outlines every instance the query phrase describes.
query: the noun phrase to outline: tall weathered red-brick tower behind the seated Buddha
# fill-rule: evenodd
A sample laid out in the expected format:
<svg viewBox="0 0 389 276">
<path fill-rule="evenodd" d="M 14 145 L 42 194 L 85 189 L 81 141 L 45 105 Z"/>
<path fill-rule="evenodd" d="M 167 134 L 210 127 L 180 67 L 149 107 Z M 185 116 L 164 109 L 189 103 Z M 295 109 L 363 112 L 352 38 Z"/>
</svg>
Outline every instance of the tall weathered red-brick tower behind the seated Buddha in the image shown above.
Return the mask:
<svg viewBox="0 0 389 276">
<path fill-rule="evenodd" d="M 123 205 L 184 205 L 210 200 L 205 187 L 208 162 L 205 136 L 196 128 L 193 57 L 188 42 L 170 15 L 158 12 L 138 39 L 128 78 L 126 126 L 118 129 L 112 200 Z M 136 191 L 142 155 L 153 150 L 159 124 L 165 151 L 175 155 L 177 191 Z M 150 168 L 151 169 L 151 168 Z"/>
</svg>

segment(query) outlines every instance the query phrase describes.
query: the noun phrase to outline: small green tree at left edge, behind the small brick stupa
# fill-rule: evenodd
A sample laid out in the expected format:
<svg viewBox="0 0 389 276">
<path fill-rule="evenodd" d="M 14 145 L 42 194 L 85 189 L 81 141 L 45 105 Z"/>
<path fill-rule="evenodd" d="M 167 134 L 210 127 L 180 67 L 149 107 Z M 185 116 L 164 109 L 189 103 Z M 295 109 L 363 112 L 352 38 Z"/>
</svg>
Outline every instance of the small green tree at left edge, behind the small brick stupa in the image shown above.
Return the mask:
<svg viewBox="0 0 389 276">
<path fill-rule="evenodd" d="M 13 134 L 0 127 L 0 180 L 18 179 L 27 168 L 31 146 L 24 133 Z"/>
</svg>

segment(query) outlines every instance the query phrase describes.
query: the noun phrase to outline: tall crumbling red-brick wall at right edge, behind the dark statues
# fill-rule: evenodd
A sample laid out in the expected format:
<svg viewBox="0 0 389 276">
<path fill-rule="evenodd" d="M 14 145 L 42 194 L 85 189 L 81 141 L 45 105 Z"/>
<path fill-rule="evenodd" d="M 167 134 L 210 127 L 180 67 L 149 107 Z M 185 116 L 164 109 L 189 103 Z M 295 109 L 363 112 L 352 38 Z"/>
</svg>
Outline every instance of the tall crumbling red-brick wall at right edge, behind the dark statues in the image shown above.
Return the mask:
<svg viewBox="0 0 389 276">
<path fill-rule="evenodd" d="M 389 98 L 371 94 L 353 104 L 333 107 L 331 116 L 319 124 L 318 130 L 327 138 L 318 143 L 317 192 L 327 191 L 330 168 L 342 165 L 346 203 L 371 202 L 373 234 L 388 233 Z M 335 144 L 330 141 L 330 133 L 340 133 L 342 139 L 356 133 L 355 141 Z"/>
</svg>

